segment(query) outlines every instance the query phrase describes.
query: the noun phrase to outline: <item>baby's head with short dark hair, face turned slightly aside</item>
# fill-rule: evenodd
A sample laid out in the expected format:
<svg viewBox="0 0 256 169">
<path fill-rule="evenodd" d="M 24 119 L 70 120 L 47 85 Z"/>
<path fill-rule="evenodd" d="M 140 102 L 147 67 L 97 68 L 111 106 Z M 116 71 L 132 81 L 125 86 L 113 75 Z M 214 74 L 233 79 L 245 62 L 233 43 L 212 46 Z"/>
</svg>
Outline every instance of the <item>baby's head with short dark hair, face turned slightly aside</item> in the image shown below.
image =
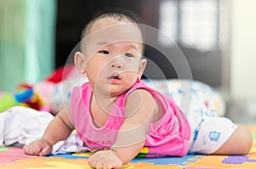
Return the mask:
<svg viewBox="0 0 256 169">
<path fill-rule="evenodd" d="M 124 82 L 128 89 L 141 78 L 147 63 L 137 18 L 127 11 L 97 14 L 84 27 L 81 51 L 75 54 L 75 65 L 86 72 L 93 88 L 107 79 L 114 87 Z"/>
</svg>

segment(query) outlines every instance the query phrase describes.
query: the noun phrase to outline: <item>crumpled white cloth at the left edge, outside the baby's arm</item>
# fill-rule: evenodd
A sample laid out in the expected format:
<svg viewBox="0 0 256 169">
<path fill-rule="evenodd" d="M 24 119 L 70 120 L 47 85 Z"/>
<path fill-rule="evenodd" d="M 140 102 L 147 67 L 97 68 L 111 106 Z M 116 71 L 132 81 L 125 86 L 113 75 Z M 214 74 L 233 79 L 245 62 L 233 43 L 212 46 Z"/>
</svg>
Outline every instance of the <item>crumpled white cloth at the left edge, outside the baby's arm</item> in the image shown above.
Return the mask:
<svg viewBox="0 0 256 169">
<path fill-rule="evenodd" d="M 28 144 L 41 136 L 53 119 L 44 111 L 15 106 L 0 114 L 0 146 Z"/>
</svg>

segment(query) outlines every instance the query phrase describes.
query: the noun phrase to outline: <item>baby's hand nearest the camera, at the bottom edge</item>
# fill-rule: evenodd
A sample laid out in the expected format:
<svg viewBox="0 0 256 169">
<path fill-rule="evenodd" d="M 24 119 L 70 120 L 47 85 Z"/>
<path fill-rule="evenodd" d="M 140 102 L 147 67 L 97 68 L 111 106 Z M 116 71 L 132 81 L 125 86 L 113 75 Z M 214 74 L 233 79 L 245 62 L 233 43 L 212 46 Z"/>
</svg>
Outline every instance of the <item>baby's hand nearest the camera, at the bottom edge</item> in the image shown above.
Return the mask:
<svg viewBox="0 0 256 169">
<path fill-rule="evenodd" d="M 122 168 L 123 162 L 112 150 L 97 151 L 91 155 L 88 163 L 93 168 Z"/>
</svg>

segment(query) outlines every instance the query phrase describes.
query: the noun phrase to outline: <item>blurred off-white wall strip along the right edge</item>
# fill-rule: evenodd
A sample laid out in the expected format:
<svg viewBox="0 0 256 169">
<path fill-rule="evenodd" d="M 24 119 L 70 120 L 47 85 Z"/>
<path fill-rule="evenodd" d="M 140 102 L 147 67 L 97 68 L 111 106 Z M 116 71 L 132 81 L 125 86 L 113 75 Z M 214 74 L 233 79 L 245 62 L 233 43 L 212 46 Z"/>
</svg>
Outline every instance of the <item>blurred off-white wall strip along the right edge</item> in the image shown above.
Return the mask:
<svg viewBox="0 0 256 169">
<path fill-rule="evenodd" d="M 236 99 L 255 99 L 256 1 L 233 0 L 231 8 L 231 94 Z"/>
</svg>

